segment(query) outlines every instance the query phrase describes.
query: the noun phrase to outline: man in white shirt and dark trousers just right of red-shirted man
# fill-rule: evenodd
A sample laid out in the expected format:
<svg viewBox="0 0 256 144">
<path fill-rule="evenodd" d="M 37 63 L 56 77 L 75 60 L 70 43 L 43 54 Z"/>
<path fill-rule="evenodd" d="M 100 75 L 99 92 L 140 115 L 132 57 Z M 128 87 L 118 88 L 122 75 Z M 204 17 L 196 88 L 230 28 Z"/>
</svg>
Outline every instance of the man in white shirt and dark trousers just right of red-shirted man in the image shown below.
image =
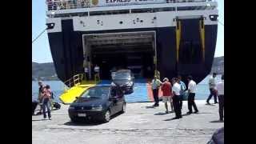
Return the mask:
<svg viewBox="0 0 256 144">
<path fill-rule="evenodd" d="M 181 89 L 181 85 L 179 84 L 178 78 L 174 78 L 173 83 L 174 83 L 174 86 L 172 87 L 173 94 L 174 94 L 173 104 L 174 104 L 174 112 L 175 112 L 174 119 L 178 119 L 178 118 L 182 118 L 182 110 L 181 110 L 181 106 L 180 106 L 180 91 L 182 89 Z"/>
</svg>

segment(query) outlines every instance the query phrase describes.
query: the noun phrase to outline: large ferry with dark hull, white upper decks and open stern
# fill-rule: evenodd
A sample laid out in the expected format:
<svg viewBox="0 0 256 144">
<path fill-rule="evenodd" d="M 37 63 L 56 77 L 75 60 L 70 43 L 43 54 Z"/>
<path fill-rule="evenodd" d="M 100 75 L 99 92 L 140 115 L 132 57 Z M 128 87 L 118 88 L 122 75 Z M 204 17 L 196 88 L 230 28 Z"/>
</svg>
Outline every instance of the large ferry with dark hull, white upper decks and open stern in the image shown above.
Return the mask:
<svg viewBox="0 0 256 144">
<path fill-rule="evenodd" d="M 210 74 L 218 30 L 213 0 L 46 0 L 46 25 L 58 78 L 100 66 L 142 78 Z M 91 75 L 91 73 L 90 73 Z M 184 79 L 186 82 L 186 79 Z"/>
</svg>

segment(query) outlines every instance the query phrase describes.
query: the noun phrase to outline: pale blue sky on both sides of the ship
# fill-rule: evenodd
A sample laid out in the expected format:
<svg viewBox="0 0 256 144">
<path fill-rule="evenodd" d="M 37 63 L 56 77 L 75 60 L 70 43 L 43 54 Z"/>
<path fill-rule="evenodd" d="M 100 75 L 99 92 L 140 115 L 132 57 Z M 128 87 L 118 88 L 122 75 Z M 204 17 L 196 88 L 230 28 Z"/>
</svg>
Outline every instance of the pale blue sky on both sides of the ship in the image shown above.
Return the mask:
<svg viewBox="0 0 256 144">
<path fill-rule="evenodd" d="M 224 1 L 218 1 L 219 21 L 224 23 Z M 44 0 L 32 0 L 32 39 L 46 28 L 46 3 Z M 31 40 L 32 41 L 32 40 Z M 215 57 L 224 55 L 224 26 L 218 24 L 218 38 L 215 50 Z M 37 41 L 32 44 L 32 62 L 53 62 L 50 54 L 50 47 L 47 33 L 42 34 Z"/>
</svg>

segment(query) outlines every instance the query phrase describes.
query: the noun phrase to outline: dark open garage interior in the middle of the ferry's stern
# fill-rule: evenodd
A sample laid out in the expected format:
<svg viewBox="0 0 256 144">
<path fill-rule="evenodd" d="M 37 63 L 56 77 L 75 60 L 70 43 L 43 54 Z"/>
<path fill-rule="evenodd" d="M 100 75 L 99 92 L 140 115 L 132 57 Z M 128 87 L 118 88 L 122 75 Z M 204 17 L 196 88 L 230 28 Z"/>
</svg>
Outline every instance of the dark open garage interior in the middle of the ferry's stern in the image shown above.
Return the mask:
<svg viewBox="0 0 256 144">
<path fill-rule="evenodd" d="M 100 77 L 110 79 L 112 70 L 129 69 L 135 78 L 153 78 L 155 32 L 84 34 L 85 61 L 100 66 Z M 93 69 L 92 69 L 93 70 Z"/>
</svg>

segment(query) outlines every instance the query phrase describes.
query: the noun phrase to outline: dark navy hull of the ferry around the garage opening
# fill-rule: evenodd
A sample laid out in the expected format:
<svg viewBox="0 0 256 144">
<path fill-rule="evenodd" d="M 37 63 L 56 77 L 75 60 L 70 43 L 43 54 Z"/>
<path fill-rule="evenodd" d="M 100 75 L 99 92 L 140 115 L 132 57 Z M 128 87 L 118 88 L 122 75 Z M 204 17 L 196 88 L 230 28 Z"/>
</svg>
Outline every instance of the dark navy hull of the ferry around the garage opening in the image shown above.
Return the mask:
<svg viewBox="0 0 256 144">
<path fill-rule="evenodd" d="M 173 78 L 178 74 L 186 78 L 186 76 L 190 74 L 194 77 L 194 81 L 198 83 L 206 78 L 208 74 L 210 74 L 211 66 L 214 60 L 217 29 L 217 25 L 205 26 L 204 62 L 202 61 L 201 52 L 198 54 L 198 58 L 196 58 L 194 62 L 187 60 L 186 56 L 184 56 L 182 60 L 182 50 L 179 51 L 180 60 L 177 62 L 176 27 L 79 32 L 73 30 L 72 20 L 62 20 L 62 32 L 48 33 L 48 38 L 55 70 L 58 74 L 58 78 L 62 82 L 65 82 L 74 74 L 83 73 L 82 34 L 154 30 L 156 32 L 158 70 L 160 71 L 161 79 L 164 77 Z M 193 30 L 186 32 L 186 37 L 184 37 L 183 40 L 189 38 L 195 38 Z M 198 37 L 196 41 L 200 42 L 199 39 L 200 38 Z"/>
</svg>

